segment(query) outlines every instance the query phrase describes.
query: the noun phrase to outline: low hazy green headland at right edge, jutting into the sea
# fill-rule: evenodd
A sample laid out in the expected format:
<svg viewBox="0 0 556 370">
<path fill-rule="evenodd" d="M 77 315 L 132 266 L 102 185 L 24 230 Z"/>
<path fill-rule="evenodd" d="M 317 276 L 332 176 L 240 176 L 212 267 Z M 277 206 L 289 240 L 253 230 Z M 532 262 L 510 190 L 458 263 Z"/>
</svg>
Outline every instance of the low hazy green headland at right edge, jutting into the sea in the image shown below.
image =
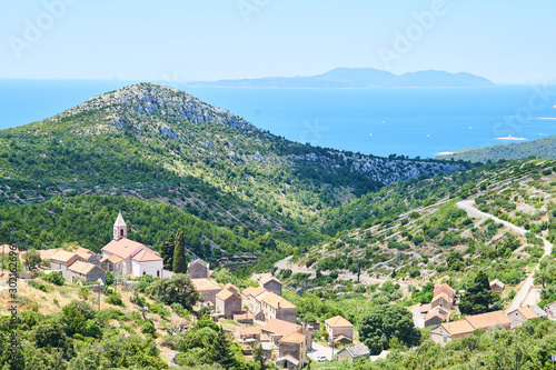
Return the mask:
<svg viewBox="0 0 556 370">
<path fill-rule="evenodd" d="M 487 148 L 456 150 L 451 154 L 438 156 L 436 159 L 485 163 L 487 161 L 523 159 L 532 156 L 556 158 L 556 136 Z"/>
</svg>

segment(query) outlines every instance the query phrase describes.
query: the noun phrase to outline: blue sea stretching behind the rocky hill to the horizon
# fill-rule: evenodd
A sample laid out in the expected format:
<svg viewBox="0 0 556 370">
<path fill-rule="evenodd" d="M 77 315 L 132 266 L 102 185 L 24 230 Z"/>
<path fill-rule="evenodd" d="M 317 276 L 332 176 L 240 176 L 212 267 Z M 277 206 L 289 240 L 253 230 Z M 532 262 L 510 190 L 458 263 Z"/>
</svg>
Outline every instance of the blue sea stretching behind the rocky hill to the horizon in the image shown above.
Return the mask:
<svg viewBox="0 0 556 370">
<path fill-rule="evenodd" d="M 0 129 L 54 116 L 133 82 L 0 80 Z M 287 139 L 383 157 L 430 158 L 518 142 L 497 140 L 508 136 L 534 140 L 556 134 L 556 86 L 548 90 L 533 86 L 364 90 L 170 86 Z"/>
</svg>

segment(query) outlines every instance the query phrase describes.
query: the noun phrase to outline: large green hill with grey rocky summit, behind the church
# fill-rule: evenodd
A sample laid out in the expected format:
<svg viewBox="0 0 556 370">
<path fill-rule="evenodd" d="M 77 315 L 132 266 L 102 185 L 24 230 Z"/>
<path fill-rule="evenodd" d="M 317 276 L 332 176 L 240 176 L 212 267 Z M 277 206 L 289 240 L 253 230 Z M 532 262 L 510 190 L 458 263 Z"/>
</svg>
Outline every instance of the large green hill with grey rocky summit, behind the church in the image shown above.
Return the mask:
<svg viewBox="0 0 556 370">
<path fill-rule="evenodd" d="M 466 168 L 288 141 L 150 83 L 0 131 L 0 202 L 121 194 L 171 203 L 230 229 L 291 230 L 319 209 L 385 184 Z"/>
</svg>

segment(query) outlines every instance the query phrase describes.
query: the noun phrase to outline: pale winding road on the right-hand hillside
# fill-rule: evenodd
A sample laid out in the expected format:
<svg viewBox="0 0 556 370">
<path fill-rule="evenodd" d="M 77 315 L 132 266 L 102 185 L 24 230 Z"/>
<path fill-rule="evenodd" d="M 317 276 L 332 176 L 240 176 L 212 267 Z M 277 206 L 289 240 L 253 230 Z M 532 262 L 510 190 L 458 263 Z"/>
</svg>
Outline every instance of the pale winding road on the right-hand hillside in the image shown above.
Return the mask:
<svg viewBox="0 0 556 370">
<path fill-rule="evenodd" d="M 456 204 L 457 204 L 457 207 L 459 207 L 460 209 L 466 211 L 467 216 L 469 216 L 469 217 L 480 218 L 480 219 L 492 219 L 496 223 L 503 223 L 504 226 L 508 227 L 509 229 L 514 230 L 515 232 L 517 232 L 522 236 L 527 232 L 527 230 L 525 230 L 518 226 L 515 226 L 515 224 L 509 223 L 507 221 L 500 220 L 499 218 L 494 217 L 493 214 L 479 211 L 478 209 L 473 207 L 473 204 L 475 204 L 475 200 L 463 200 L 463 201 L 457 202 Z M 553 244 L 549 243 L 548 240 L 546 240 L 545 238 L 542 238 L 542 237 L 539 237 L 539 238 L 543 239 L 544 248 L 545 248 L 545 252 L 543 253 L 543 257 L 549 256 L 553 252 Z M 529 273 L 527 279 L 525 279 L 525 283 L 523 284 L 522 289 L 519 290 L 519 292 L 517 292 L 516 297 L 512 301 L 512 304 L 509 306 L 507 312 L 512 312 L 512 311 L 518 309 L 519 307 L 522 307 L 522 303 L 525 301 L 525 298 L 527 298 L 530 289 L 533 288 L 533 280 L 534 280 L 533 276 L 535 274 L 535 271 L 537 271 L 537 270 L 538 270 L 538 264 Z"/>
</svg>

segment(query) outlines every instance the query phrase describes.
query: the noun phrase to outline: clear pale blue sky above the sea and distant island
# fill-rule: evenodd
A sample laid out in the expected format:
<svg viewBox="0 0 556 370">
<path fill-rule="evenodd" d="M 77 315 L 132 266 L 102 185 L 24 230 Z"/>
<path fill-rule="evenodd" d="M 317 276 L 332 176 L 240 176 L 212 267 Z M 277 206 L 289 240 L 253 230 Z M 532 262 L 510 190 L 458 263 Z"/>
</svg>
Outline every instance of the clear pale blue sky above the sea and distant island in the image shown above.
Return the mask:
<svg viewBox="0 0 556 370">
<path fill-rule="evenodd" d="M 556 80 L 554 0 L 3 1 L 0 78 L 199 81 L 336 67 Z"/>
</svg>

